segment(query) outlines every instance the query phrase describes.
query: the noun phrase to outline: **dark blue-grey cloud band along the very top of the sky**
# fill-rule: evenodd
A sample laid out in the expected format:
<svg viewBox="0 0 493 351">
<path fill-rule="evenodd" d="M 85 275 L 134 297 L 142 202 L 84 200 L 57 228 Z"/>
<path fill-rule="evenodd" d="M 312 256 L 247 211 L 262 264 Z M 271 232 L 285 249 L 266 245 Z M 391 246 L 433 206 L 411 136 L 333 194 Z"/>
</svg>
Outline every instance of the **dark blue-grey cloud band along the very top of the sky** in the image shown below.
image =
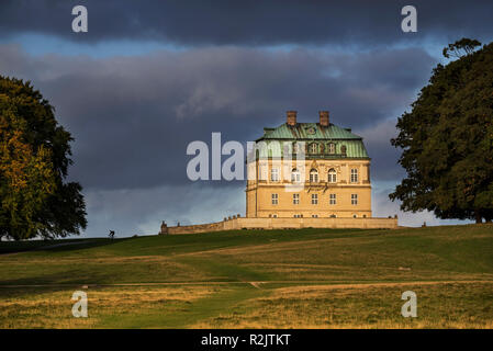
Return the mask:
<svg viewBox="0 0 493 351">
<path fill-rule="evenodd" d="M 71 8 L 85 4 L 89 33 L 71 32 Z M 403 34 L 401 9 L 418 11 L 418 33 Z M 416 38 L 489 37 L 484 1 L 96 1 L 3 0 L 0 36 L 45 33 L 74 41 L 156 39 L 177 44 L 393 44 Z"/>
</svg>

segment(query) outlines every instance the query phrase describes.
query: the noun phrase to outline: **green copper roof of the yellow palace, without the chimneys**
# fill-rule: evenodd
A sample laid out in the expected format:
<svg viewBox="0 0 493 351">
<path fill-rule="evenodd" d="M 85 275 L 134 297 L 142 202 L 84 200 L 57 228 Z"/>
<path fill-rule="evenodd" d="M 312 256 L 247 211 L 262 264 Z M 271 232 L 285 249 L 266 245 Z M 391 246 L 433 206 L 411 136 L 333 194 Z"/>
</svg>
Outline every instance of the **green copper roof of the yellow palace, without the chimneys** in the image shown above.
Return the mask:
<svg viewBox="0 0 493 351">
<path fill-rule="evenodd" d="M 306 158 L 369 158 L 362 137 L 352 134 L 350 129 L 338 127 L 330 124 L 328 127 L 323 127 L 318 123 L 298 123 L 295 126 L 282 124 L 277 128 L 264 128 L 264 136 L 257 141 L 273 141 L 279 140 L 283 143 L 305 141 L 306 145 L 318 144 L 318 152 L 306 152 Z M 313 141 L 312 141 L 313 140 Z M 328 152 L 329 144 L 334 144 L 335 152 Z M 346 152 L 344 154 L 344 147 Z M 283 150 L 280 150 L 281 155 Z M 268 151 L 269 157 L 278 157 Z M 273 152 L 278 154 L 278 152 Z"/>
</svg>

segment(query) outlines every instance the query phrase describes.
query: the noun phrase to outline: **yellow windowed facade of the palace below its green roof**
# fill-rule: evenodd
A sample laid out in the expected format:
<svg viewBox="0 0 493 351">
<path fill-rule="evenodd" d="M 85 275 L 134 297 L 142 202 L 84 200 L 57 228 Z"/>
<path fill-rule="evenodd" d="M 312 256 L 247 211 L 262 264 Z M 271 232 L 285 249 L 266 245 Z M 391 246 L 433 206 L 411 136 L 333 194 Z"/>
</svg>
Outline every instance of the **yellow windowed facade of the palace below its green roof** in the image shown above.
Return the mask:
<svg viewBox="0 0 493 351">
<path fill-rule="evenodd" d="M 282 163 L 269 160 L 268 177 L 261 163 L 257 161 L 258 177 L 247 181 L 247 217 L 371 217 L 369 160 L 305 160 L 304 182 L 294 185 L 292 171 Z M 278 169 L 277 181 L 271 177 L 272 169 Z M 332 169 L 336 171 L 335 182 L 329 181 Z M 317 181 L 310 181 L 313 170 L 317 171 Z M 354 170 L 357 179 L 352 177 L 351 181 Z M 267 179 L 261 180 L 261 173 Z"/>
</svg>

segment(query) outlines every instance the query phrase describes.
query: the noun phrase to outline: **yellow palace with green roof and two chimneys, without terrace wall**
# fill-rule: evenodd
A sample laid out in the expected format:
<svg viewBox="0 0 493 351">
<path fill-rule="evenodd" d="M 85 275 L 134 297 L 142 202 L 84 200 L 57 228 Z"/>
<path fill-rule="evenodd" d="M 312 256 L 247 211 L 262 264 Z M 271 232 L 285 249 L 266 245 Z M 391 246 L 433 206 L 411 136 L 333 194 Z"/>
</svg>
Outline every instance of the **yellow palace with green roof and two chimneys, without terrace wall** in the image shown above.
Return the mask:
<svg viewBox="0 0 493 351">
<path fill-rule="evenodd" d="M 318 123 L 299 123 L 288 111 L 284 124 L 264 128 L 256 141 L 267 151 L 248 165 L 247 218 L 371 218 L 370 157 L 328 111 Z"/>
</svg>

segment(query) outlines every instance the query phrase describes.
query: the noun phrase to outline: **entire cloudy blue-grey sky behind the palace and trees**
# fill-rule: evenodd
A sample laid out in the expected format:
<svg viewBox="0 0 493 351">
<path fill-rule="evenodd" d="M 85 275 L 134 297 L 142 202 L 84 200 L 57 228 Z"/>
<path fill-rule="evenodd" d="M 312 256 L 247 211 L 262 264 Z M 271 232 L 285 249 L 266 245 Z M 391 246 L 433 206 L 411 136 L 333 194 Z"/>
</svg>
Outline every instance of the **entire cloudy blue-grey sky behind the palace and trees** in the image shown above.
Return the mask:
<svg viewBox="0 0 493 351">
<path fill-rule="evenodd" d="M 75 5 L 88 32 L 75 33 Z M 417 10 L 404 33 L 401 9 Z M 491 1 L 0 1 L 0 75 L 30 80 L 71 133 L 69 180 L 83 186 L 83 237 L 157 234 L 245 214 L 244 181 L 187 178 L 187 146 L 255 140 L 285 122 L 330 122 L 362 136 L 372 158 L 373 216 L 405 177 L 390 144 L 441 49 L 490 43 Z M 223 157 L 223 160 L 225 158 Z"/>
</svg>

